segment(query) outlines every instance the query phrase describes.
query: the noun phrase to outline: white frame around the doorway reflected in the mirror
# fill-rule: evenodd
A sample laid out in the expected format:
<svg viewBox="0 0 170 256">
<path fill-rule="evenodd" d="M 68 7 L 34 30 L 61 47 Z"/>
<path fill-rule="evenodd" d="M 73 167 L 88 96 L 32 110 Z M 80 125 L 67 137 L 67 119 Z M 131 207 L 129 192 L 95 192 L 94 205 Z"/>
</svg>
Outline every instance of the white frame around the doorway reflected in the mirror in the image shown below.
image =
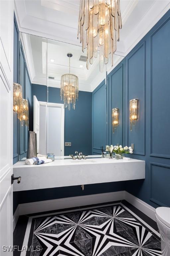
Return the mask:
<svg viewBox="0 0 170 256">
<path fill-rule="evenodd" d="M 61 155 L 64 156 L 64 104 L 60 103 L 46 103 L 45 101 L 39 101 L 41 106 L 61 108 Z M 48 138 L 48 129 L 47 129 L 47 137 Z"/>
</svg>

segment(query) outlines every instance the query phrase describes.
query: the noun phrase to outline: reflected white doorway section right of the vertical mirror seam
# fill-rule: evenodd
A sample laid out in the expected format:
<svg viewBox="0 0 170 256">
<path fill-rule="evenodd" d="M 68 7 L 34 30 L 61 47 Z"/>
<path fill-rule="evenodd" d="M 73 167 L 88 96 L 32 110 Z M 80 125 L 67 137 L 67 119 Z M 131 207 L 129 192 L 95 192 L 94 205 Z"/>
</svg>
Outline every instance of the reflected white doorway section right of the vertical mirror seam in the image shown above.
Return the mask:
<svg viewBox="0 0 170 256">
<path fill-rule="evenodd" d="M 64 156 L 64 105 L 47 103 L 47 153 Z"/>
</svg>

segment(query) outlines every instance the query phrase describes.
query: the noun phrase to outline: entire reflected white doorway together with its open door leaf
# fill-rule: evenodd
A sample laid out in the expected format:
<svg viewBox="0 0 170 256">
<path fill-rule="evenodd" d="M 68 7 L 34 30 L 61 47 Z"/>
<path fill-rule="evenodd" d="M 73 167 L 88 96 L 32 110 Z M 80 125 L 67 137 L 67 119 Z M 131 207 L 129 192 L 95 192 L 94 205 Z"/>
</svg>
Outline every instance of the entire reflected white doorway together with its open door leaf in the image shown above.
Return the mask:
<svg viewBox="0 0 170 256">
<path fill-rule="evenodd" d="M 64 105 L 38 101 L 34 95 L 34 131 L 37 133 L 39 154 L 54 153 L 55 156 L 64 156 Z"/>
</svg>

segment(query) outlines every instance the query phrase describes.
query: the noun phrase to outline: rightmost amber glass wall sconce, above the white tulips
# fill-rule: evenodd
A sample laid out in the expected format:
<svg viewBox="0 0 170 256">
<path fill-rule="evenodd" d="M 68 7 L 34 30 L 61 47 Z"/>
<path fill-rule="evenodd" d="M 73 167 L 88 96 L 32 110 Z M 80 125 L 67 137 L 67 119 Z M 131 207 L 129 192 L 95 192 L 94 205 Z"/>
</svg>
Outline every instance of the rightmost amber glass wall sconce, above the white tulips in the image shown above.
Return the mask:
<svg viewBox="0 0 170 256">
<path fill-rule="evenodd" d="M 135 125 L 138 120 L 138 99 L 129 100 L 129 112 L 130 112 L 130 131 L 132 126 Z"/>
</svg>

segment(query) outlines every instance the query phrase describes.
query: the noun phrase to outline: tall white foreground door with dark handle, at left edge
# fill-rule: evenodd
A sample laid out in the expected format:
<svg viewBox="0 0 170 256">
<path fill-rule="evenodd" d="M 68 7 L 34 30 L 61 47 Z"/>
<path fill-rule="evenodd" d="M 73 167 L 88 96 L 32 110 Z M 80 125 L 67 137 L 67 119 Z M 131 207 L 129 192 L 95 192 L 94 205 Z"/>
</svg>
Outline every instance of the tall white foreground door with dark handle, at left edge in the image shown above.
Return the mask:
<svg viewBox="0 0 170 256">
<path fill-rule="evenodd" d="M 0 1 L 0 255 L 13 245 L 13 30 L 14 2 Z M 4 246 L 4 247 L 3 247 Z M 6 251 L 7 250 L 7 251 Z"/>
</svg>

